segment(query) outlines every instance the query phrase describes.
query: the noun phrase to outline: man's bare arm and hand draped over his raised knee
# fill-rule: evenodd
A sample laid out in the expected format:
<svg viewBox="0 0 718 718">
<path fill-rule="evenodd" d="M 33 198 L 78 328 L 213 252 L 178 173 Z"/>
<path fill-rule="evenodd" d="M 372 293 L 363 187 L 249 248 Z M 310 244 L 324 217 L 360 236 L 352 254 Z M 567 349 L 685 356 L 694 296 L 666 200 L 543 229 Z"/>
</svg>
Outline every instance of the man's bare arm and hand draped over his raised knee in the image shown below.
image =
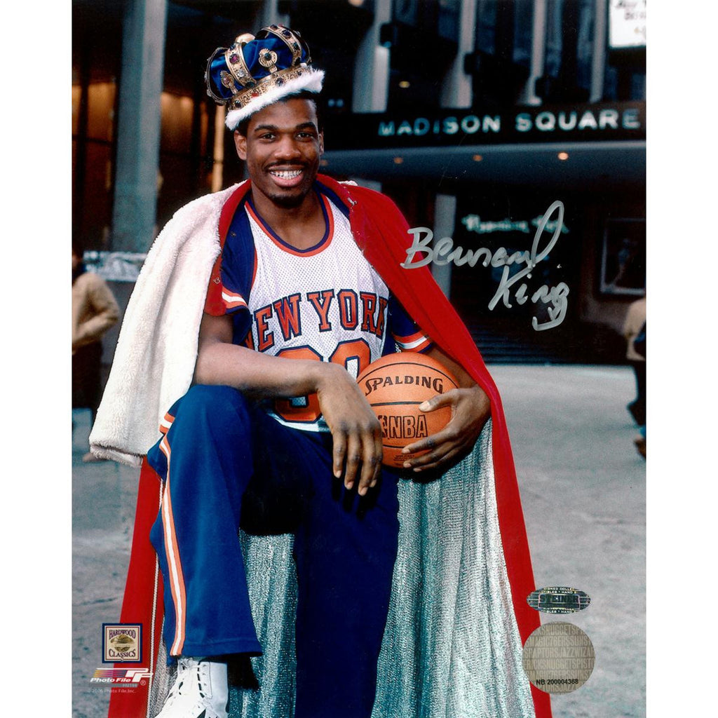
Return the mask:
<svg viewBox="0 0 718 718">
<path fill-rule="evenodd" d="M 338 364 L 285 359 L 232 343 L 231 317 L 204 314 L 195 383 L 233 386 L 251 398 L 316 393 L 332 432 L 333 470 L 364 495 L 381 470 L 381 425 L 356 381 Z"/>
</svg>

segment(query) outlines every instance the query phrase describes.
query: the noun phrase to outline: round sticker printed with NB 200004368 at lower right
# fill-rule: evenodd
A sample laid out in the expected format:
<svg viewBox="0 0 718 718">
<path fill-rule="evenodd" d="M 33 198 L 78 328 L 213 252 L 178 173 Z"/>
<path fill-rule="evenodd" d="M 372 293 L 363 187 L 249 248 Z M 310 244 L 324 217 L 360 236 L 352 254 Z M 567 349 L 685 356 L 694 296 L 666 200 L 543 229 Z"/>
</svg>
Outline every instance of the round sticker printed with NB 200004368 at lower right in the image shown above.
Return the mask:
<svg viewBox="0 0 718 718">
<path fill-rule="evenodd" d="M 591 639 L 572 623 L 539 626 L 523 646 L 523 670 L 546 693 L 570 693 L 593 672 L 596 654 Z"/>
</svg>

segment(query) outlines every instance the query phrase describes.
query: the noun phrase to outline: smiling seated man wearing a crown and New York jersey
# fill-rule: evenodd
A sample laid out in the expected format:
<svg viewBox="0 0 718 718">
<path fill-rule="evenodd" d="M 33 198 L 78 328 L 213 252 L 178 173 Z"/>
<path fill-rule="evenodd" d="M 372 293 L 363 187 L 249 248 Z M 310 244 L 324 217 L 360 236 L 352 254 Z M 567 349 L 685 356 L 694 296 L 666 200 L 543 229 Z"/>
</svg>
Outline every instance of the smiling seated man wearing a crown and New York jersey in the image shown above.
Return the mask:
<svg viewBox="0 0 718 718">
<path fill-rule="evenodd" d="M 374 266 L 404 291 L 400 246 L 357 220 L 363 212 L 367 222 L 399 227 L 396 208 L 317 177 L 324 141 L 312 94 L 322 74 L 299 35 L 281 26 L 238 37 L 208 64 L 210 95 L 228 106 L 250 183 L 222 205 L 223 248 L 210 274 L 194 386 L 146 451 L 162 479 L 151 541 L 164 579 L 164 642 L 179 661 L 159 718 L 225 717 L 227 663 L 263 651 L 239 527 L 294 533 L 296 718 L 368 718 L 396 559 L 399 477 L 381 466 L 381 429 L 355 373 L 396 342 L 426 350 L 459 379 L 461 388 L 425 407 L 449 405 L 453 416 L 406 448 L 429 449 L 404 465 L 413 474 L 464 457 L 490 416 L 470 373 L 414 325 L 411 314 L 425 314 L 416 297 L 402 307 Z M 391 251 L 396 263 L 382 256 Z M 426 317 L 430 336 L 442 335 L 436 322 Z M 101 432 L 94 444 L 112 450 Z"/>
</svg>

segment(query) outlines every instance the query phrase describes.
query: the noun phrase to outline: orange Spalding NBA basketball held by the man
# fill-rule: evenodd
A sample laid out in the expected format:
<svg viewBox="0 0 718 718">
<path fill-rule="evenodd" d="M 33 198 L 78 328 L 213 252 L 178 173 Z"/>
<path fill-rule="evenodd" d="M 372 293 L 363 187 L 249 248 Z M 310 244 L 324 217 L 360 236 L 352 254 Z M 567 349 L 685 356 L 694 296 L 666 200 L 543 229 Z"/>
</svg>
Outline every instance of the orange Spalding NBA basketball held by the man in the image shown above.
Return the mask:
<svg viewBox="0 0 718 718">
<path fill-rule="evenodd" d="M 452 410 L 421 411 L 419 404 L 457 388 L 456 379 L 436 359 L 415 352 L 383 356 L 357 378 L 383 432 L 383 464 L 401 468 L 406 460 L 426 454 L 402 454 L 407 444 L 436 434 L 449 423 Z"/>
</svg>

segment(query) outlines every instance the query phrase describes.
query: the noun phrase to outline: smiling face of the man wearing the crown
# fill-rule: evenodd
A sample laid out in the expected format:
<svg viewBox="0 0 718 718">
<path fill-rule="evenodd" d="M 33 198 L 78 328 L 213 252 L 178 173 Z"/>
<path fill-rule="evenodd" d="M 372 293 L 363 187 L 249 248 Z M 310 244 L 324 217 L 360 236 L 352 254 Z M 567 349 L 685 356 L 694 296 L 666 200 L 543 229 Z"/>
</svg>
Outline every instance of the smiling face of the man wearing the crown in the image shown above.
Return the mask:
<svg viewBox="0 0 718 718">
<path fill-rule="evenodd" d="M 283 208 L 299 206 L 312 190 L 324 151 L 310 100 L 277 102 L 251 116 L 247 135 L 234 134 L 253 192 Z"/>
</svg>

